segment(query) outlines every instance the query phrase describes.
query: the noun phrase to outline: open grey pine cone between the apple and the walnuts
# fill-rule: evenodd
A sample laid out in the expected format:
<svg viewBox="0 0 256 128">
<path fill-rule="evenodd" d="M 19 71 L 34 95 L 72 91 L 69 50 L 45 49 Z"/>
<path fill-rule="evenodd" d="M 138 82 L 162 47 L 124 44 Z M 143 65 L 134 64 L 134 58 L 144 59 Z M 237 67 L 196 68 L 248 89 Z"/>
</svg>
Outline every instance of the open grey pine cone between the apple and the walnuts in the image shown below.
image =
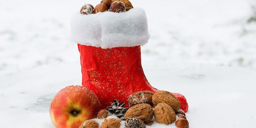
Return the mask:
<svg viewBox="0 0 256 128">
<path fill-rule="evenodd" d="M 129 109 L 123 108 L 124 105 L 124 102 L 119 103 L 119 100 L 114 99 L 113 102 L 111 102 L 111 106 L 107 107 L 107 111 L 117 116 L 118 118 L 124 120 L 125 113 Z"/>
</svg>

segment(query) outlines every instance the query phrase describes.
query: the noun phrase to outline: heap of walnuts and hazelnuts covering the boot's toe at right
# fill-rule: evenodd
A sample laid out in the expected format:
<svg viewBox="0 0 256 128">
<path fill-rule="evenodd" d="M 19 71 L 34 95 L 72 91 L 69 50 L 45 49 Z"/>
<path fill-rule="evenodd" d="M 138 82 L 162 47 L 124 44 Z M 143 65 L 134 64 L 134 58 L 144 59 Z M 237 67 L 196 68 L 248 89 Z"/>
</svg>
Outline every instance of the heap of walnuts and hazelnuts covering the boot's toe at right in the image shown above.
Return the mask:
<svg viewBox="0 0 256 128">
<path fill-rule="evenodd" d="M 168 91 L 140 91 L 129 96 L 128 102 L 131 108 L 125 114 L 125 119 L 137 117 L 146 125 L 152 124 L 151 119 L 161 124 L 169 125 L 176 121 L 177 128 L 189 128 L 184 111 L 180 110 L 179 100 Z M 153 110 L 154 108 L 154 110 Z"/>
</svg>

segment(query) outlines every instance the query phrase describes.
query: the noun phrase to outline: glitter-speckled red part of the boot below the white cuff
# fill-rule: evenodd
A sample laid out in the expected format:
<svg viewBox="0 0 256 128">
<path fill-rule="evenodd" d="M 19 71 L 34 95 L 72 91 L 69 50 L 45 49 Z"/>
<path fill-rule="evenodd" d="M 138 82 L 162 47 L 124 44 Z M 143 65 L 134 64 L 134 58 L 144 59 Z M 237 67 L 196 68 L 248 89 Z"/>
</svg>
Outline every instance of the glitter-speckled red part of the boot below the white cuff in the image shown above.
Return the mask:
<svg viewBox="0 0 256 128">
<path fill-rule="evenodd" d="M 145 78 L 141 66 L 140 46 L 114 47 L 102 49 L 78 44 L 81 55 L 82 85 L 93 90 L 98 96 L 102 108 L 109 106 L 113 99 L 126 102 L 129 95 L 141 90 L 157 89 L 152 87 Z M 175 94 L 175 93 L 174 93 Z M 181 105 L 187 111 L 185 97 L 175 94 L 182 99 Z"/>
</svg>

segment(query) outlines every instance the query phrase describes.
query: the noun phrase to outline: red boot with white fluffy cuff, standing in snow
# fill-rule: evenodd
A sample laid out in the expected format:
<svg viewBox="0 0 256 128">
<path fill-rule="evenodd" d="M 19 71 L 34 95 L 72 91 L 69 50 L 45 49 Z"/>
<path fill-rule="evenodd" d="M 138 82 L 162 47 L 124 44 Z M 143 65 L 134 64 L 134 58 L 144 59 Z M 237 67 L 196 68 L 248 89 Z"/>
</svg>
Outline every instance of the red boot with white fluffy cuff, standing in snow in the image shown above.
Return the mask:
<svg viewBox="0 0 256 128">
<path fill-rule="evenodd" d="M 102 108 L 109 106 L 113 99 L 126 102 L 128 107 L 127 100 L 132 93 L 157 91 L 145 78 L 141 66 L 140 45 L 146 44 L 150 37 L 143 9 L 74 15 L 71 34 L 78 42 L 82 85 L 93 90 Z M 185 97 L 174 94 L 183 111 L 187 111 Z"/>
</svg>

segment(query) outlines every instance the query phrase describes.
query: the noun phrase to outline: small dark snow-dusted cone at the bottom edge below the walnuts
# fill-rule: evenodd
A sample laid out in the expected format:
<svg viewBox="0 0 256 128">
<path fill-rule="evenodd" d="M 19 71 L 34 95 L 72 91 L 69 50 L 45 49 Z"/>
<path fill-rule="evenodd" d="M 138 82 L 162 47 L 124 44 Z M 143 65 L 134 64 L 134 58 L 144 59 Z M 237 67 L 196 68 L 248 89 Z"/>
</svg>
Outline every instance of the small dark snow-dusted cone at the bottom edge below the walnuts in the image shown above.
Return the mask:
<svg viewBox="0 0 256 128">
<path fill-rule="evenodd" d="M 139 118 L 129 118 L 125 121 L 125 128 L 145 128 L 145 123 Z"/>
</svg>

